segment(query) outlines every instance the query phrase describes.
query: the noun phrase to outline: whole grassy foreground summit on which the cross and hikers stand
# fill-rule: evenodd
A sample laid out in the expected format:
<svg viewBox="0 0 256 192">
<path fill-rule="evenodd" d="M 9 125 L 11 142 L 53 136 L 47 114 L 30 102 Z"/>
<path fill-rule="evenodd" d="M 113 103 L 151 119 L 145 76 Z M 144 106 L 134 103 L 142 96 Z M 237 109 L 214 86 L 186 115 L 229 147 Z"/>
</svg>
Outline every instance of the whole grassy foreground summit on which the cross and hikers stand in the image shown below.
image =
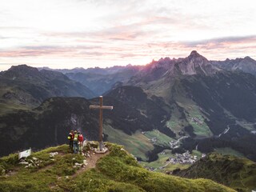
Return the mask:
<svg viewBox="0 0 256 192">
<path fill-rule="evenodd" d="M 29 168 L 18 164 L 17 154 L 10 154 L 0 159 L 0 191 L 234 191 L 207 179 L 150 172 L 122 146 L 108 146 L 110 152 L 95 162 L 98 154 L 91 151 L 85 167 L 74 167 L 85 156 L 70 154 L 66 145 L 32 154 L 26 161 L 37 163 Z M 53 152 L 58 154 L 51 157 Z"/>
</svg>

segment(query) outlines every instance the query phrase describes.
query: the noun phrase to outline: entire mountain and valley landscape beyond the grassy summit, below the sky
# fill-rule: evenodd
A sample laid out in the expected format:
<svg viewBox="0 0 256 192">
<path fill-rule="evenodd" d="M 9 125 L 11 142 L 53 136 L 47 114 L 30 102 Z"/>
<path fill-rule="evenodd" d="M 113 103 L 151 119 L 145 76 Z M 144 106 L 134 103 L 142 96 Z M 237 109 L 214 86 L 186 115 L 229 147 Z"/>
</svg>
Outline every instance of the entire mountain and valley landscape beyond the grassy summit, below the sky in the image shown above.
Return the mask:
<svg viewBox="0 0 256 192">
<path fill-rule="evenodd" d="M 250 61 L 250 64 L 252 62 Z M 256 64 L 255 64 L 256 65 Z M 156 172 L 186 170 L 218 152 L 256 161 L 256 77 L 196 51 L 146 66 L 61 72 L 13 66 L 0 73 L 0 155 L 67 142 L 70 129 L 118 143 Z"/>
</svg>

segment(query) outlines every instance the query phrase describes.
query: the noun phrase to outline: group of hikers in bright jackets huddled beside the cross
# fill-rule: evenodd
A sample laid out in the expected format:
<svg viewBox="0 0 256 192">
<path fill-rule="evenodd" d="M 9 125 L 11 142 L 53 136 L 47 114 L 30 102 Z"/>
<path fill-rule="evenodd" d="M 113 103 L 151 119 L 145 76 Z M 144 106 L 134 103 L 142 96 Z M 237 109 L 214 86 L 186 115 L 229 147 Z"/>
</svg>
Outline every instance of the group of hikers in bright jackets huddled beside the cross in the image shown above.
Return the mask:
<svg viewBox="0 0 256 192">
<path fill-rule="evenodd" d="M 72 150 L 74 154 L 81 152 L 83 142 L 82 134 L 77 130 L 71 130 L 67 138 L 70 141 L 70 150 Z"/>
</svg>

